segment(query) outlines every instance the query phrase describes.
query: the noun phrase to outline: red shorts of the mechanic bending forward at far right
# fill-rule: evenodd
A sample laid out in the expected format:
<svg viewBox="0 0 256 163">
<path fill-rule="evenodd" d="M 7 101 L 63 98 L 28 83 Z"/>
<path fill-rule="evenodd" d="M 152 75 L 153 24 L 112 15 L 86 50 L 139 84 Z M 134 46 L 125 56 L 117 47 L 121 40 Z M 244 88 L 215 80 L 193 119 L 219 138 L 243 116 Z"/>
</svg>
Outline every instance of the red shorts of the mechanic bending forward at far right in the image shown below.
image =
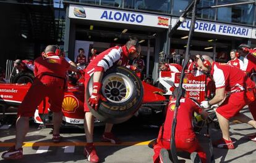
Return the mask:
<svg viewBox="0 0 256 163">
<path fill-rule="evenodd" d="M 216 112 L 226 119 L 230 119 L 231 117 L 236 116 L 236 114 L 248 103 L 245 91 L 231 93 L 231 95 L 216 109 Z"/>
</svg>

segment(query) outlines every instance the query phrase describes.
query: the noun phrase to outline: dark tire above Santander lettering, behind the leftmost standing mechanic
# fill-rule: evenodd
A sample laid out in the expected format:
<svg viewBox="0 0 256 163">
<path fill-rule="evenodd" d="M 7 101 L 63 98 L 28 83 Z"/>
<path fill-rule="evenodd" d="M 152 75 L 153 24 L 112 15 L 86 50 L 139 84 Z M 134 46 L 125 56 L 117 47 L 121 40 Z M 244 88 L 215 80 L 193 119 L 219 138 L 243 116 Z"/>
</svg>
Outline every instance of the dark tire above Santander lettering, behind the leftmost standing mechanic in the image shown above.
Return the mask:
<svg viewBox="0 0 256 163">
<path fill-rule="evenodd" d="M 28 82 L 33 83 L 34 74 L 30 71 L 23 71 L 14 76 L 13 83 L 27 84 Z"/>
</svg>

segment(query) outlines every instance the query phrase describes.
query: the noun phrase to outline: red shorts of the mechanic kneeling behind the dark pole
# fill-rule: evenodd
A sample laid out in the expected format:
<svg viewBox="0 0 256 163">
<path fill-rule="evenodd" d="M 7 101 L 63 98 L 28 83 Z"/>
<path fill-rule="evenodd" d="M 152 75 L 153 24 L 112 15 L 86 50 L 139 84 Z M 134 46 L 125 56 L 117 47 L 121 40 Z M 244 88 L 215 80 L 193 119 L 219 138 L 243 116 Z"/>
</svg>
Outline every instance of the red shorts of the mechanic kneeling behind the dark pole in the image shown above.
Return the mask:
<svg viewBox="0 0 256 163">
<path fill-rule="evenodd" d="M 161 132 L 161 129 L 160 129 Z M 198 156 L 200 157 L 203 163 L 207 162 L 206 153 L 203 151 L 202 147 L 200 146 L 195 133 L 184 132 L 182 134 L 176 134 L 175 144 L 177 151 L 187 151 L 189 153 L 197 152 Z M 170 141 L 168 140 L 161 140 L 161 133 L 158 135 L 158 140 L 156 145 L 154 146 L 154 156 L 153 162 L 158 163 L 160 162 L 160 151 L 162 148 L 170 149 Z"/>
</svg>

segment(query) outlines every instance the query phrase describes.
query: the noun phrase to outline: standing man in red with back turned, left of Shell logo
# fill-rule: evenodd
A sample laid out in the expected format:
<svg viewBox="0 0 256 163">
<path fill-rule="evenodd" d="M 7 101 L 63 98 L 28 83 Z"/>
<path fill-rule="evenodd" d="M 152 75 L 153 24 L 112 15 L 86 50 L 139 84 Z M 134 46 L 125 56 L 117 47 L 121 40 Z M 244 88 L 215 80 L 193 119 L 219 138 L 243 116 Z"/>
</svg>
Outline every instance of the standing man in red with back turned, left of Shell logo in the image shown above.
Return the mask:
<svg viewBox="0 0 256 163">
<path fill-rule="evenodd" d="M 22 144 L 28 132 L 28 120 L 35 113 L 36 107 L 49 97 L 50 109 L 54 112 L 53 142 L 60 141 L 59 127 L 62 122 L 61 105 L 64 98 L 64 85 L 67 70 L 79 72 L 63 57 L 59 57 L 58 46 L 47 46 L 44 56 L 35 60 L 35 79 L 21 105 L 18 108 L 16 121 L 15 145 L 2 154 L 3 159 L 20 159 L 23 157 Z"/>
</svg>

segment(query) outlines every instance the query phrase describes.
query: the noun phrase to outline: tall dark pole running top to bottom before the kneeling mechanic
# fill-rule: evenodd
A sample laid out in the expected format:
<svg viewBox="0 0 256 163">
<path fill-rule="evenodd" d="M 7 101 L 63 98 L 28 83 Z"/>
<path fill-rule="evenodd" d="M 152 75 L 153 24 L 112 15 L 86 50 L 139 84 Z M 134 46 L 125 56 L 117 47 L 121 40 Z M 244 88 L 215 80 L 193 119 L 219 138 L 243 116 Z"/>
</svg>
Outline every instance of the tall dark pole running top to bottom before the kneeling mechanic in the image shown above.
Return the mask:
<svg viewBox="0 0 256 163">
<path fill-rule="evenodd" d="M 191 18 L 191 24 L 190 24 L 190 30 L 189 30 L 189 38 L 187 39 L 187 47 L 186 47 L 186 55 L 184 58 L 184 65 L 187 65 L 189 62 L 189 50 L 190 50 L 190 44 L 192 40 L 192 35 L 195 30 L 195 13 L 197 12 L 197 0 L 194 1 L 194 7 L 192 10 L 192 18 Z M 177 99 L 176 99 L 176 105 L 175 105 L 175 110 L 174 110 L 174 117 L 173 117 L 173 124 L 172 124 L 172 130 L 171 130 L 171 155 L 173 156 L 173 161 L 174 163 L 178 162 L 177 159 L 177 151 L 176 151 L 176 144 L 175 144 L 175 132 L 176 132 L 176 125 L 177 125 L 177 110 L 179 108 L 182 96 L 182 84 L 183 84 L 183 79 L 185 76 L 185 67 L 183 66 L 182 71 L 181 71 L 181 78 L 179 81 L 179 87 L 177 88 Z"/>
</svg>

